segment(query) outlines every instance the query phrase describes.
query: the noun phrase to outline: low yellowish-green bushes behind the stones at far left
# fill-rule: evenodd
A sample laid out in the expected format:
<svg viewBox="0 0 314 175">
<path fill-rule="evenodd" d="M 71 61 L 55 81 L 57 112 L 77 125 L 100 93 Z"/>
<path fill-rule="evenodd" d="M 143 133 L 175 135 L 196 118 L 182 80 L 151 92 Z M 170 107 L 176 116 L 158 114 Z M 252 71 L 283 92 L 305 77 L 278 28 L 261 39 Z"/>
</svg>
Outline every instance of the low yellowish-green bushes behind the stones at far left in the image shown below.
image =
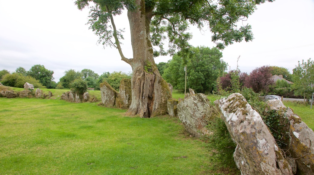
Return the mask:
<svg viewBox="0 0 314 175">
<path fill-rule="evenodd" d="M 46 88 L 38 80 L 30 76 L 24 76 L 19 73 L 6 74 L 2 77 L 2 84 L 11 87 L 24 88 L 25 82 L 33 84 L 35 88 Z"/>
</svg>

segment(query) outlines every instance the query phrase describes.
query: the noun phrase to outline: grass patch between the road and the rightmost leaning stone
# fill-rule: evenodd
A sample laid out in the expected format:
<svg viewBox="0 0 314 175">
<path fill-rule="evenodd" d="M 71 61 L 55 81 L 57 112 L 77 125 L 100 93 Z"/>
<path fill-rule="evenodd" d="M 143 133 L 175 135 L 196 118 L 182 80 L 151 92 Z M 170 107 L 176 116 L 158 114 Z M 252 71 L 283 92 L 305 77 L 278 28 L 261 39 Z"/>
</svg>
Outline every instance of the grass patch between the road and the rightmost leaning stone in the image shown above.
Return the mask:
<svg viewBox="0 0 314 175">
<path fill-rule="evenodd" d="M 286 107 L 290 107 L 295 114 L 298 114 L 306 125 L 314 130 L 314 106 L 297 104 L 295 102 L 284 101 Z"/>
</svg>

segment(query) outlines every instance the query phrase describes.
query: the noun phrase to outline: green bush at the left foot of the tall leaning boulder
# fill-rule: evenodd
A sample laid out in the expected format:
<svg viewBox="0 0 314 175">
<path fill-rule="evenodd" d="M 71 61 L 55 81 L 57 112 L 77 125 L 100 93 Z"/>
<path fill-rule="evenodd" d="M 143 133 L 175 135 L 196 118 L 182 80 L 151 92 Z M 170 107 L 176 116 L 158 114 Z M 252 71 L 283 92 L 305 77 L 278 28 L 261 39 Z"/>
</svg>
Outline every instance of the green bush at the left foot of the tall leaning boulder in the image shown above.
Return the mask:
<svg viewBox="0 0 314 175">
<path fill-rule="evenodd" d="M 232 141 L 225 122 L 220 117 L 215 117 L 214 121 L 207 125 L 208 130 L 213 134 L 204 137 L 208 142 L 207 146 L 210 150 L 214 150 L 213 156 L 223 167 L 236 168 L 233 159 L 233 153 L 236 144 Z"/>
</svg>

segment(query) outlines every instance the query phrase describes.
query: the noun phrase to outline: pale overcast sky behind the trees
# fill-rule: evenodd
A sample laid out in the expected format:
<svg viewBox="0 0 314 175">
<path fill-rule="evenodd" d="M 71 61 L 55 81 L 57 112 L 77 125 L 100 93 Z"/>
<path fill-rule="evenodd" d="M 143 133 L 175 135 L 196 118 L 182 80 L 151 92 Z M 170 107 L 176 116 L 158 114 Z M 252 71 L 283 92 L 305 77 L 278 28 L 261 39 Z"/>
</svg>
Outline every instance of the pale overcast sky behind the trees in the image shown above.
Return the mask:
<svg viewBox="0 0 314 175">
<path fill-rule="evenodd" d="M 264 65 L 285 67 L 292 73 L 298 61 L 314 59 L 314 0 L 276 0 L 257 8 L 243 23 L 252 25 L 255 39 L 222 51 L 230 69 L 236 69 L 239 56 L 239 68 L 247 73 Z M 19 66 L 29 70 L 41 64 L 54 71 L 56 82 L 69 69 L 86 68 L 98 74 L 132 71 L 116 49 L 97 45 L 98 37 L 85 25 L 88 13 L 88 9 L 79 11 L 74 0 L 0 0 L 0 70 L 14 72 Z M 127 16 L 115 20 L 118 28 L 126 28 L 122 49 L 132 58 Z M 215 46 L 209 30 L 191 27 L 191 31 L 193 46 Z M 157 57 L 155 62 L 169 59 Z"/>
</svg>

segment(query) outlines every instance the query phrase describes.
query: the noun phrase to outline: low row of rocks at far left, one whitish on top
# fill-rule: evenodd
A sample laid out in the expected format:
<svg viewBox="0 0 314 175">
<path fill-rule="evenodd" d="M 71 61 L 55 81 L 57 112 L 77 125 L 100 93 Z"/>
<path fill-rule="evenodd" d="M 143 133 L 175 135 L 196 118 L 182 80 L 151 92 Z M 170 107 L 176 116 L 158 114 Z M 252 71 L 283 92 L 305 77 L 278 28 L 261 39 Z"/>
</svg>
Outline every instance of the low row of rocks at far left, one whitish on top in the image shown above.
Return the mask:
<svg viewBox="0 0 314 175">
<path fill-rule="evenodd" d="M 48 95 L 45 94 L 41 89 L 37 88 L 36 91 L 34 92 L 35 88 L 34 85 L 26 82 L 24 84 L 24 90 L 20 92 L 14 92 L 13 90 L 8 90 L 6 86 L 3 86 L 3 84 L 0 83 L 0 97 L 6 97 L 6 98 L 51 98 L 52 93 L 49 91 Z"/>
</svg>

